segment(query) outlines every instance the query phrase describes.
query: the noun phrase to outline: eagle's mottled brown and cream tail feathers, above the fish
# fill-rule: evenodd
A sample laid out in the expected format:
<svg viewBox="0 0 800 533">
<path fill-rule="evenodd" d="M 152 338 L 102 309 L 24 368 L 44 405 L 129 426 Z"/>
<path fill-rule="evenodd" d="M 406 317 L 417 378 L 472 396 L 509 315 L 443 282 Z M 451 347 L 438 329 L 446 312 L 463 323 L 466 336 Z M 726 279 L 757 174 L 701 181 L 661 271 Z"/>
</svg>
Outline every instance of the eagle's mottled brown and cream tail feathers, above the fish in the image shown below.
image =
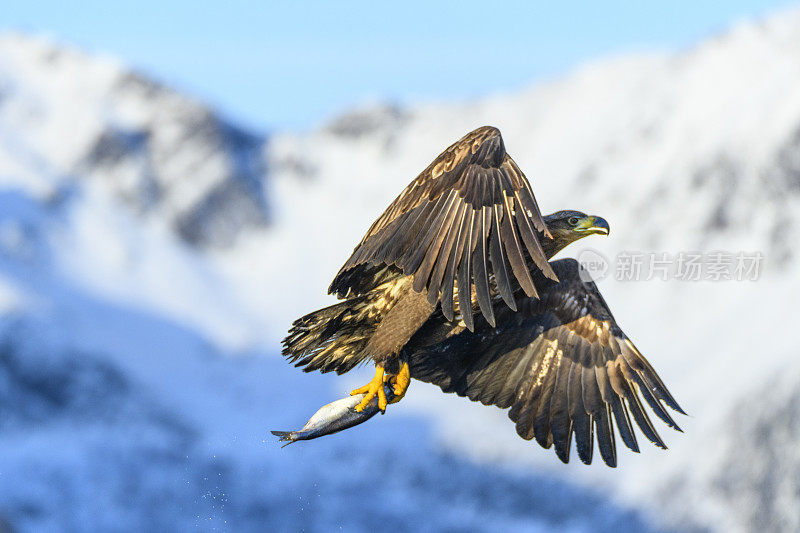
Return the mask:
<svg viewBox="0 0 800 533">
<path fill-rule="evenodd" d="M 343 374 L 367 358 L 363 348 L 375 327 L 369 297 L 355 296 L 295 320 L 282 353 L 305 372 Z"/>
</svg>

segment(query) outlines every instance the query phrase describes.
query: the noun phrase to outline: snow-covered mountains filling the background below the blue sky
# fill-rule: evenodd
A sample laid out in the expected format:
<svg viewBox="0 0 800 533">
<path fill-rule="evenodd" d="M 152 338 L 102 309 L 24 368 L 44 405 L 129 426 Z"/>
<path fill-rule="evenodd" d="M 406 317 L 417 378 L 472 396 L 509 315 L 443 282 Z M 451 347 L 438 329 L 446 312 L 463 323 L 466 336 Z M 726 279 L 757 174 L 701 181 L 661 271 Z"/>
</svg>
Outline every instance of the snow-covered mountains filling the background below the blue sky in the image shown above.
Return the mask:
<svg viewBox="0 0 800 533">
<path fill-rule="evenodd" d="M 30 530 L 55 529 L 73 508 L 140 529 L 218 524 L 193 513 L 238 529 L 368 528 L 436 515 L 436 498 L 454 492 L 457 512 L 435 526 L 792 530 L 800 426 L 786 406 L 800 365 L 775 325 L 800 290 L 798 33 L 800 10 L 787 11 L 680 53 L 602 60 L 472 102 L 366 107 L 268 141 L 113 60 L 0 37 L 0 399 L 14 413 L 0 515 Z M 361 379 L 304 375 L 271 357 L 286 327 L 332 302 L 325 289 L 372 220 L 483 124 L 501 129 L 543 211 L 609 220 L 609 238 L 583 241 L 609 259 L 764 255 L 757 282 L 598 282 L 692 415 L 678 421 L 685 433 L 665 430 L 666 452 L 621 453 L 616 470 L 565 467 L 521 441 L 504 412 L 415 383 L 394 416 L 273 449 L 265 427 L 302 423 Z M 225 357 L 253 353 L 269 356 Z M 67 451 L 51 457 L 56 439 Z M 425 454 L 413 451 L 420 443 Z M 743 449 L 764 468 L 741 466 Z M 374 515 L 337 511 L 356 505 L 338 492 L 342 479 L 357 494 L 371 486 L 365 469 L 400 475 L 406 500 Z M 496 474 L 511 469 L 521 477 Z M 139 488 L 120 503 L 128 489 L 116 476 L 132 472 Z M 486 472 L 524 496 L 483 499 Z M 552 497 L 535 489 L 548 483 Z M 153 494 L 170 505 L 150 518 Z M 752 501 L 772 503 L 753 512 Z"/>
</svg>

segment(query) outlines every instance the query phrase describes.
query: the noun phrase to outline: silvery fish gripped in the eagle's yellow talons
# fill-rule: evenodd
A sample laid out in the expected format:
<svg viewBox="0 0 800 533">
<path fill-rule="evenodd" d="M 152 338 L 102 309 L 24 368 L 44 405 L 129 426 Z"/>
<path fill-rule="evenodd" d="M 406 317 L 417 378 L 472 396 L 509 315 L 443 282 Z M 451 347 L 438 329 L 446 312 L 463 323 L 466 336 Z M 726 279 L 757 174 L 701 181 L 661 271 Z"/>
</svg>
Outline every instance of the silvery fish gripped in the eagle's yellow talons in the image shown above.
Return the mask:
<svg viewBox="0 0 800 533">
<path fill-rule="evenodd" d="M 386 400 L 392 401 L 394 398 L 394 389 L 388 383 L 383 386 L 383 391 L 386 393 Z M 378 409 L 378 397 L 372 399 L 367 404 L 363 411 L 356 411 L 356 406 L 361 403 L 366 394 L 356 394 L 354 396 L 347 396 L 340 398 L 335 402 L 323 405 L 314 415 L 308 419 L 306 425 L 302 429 L 295 431 L 270 431 L 273 435 L 278 437 L 278 441 L 286 444 L 286 446 L 295 443 L 299 440 L 311 440 L 325 435 L 333 435 L 353 426 L 363 424 L 376 414 L 380 412 Z"/>
</svg>

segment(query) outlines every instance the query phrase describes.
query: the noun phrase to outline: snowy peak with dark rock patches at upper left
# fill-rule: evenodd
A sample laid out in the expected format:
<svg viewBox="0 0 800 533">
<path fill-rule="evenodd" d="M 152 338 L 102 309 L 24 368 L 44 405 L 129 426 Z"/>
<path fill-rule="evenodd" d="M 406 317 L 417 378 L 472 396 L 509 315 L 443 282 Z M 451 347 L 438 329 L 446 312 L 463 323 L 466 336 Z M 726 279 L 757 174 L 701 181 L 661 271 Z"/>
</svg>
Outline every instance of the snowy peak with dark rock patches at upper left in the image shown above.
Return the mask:
<svg viewBox="0 0 800 533">
<path fill-rule="evenodd" d="M 110 59 L 0 38 L 0 169 L 46 192 L 80 178 L 187 242 L 269 220 L 265 139 Z M 48 176 L 43 179 L 42 174 Z"/>
</svg>

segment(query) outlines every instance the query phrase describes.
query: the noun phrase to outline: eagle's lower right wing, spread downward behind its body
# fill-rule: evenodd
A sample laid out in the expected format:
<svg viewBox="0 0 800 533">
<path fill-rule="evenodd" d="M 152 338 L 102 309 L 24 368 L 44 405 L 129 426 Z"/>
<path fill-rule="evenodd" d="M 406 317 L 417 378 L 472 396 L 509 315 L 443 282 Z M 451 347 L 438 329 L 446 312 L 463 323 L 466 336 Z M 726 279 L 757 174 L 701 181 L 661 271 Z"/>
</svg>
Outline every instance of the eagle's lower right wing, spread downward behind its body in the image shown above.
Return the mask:
<svg viewBox="0 0 800 533">
<path fill-rule="evenodd" d="M 409 345 L 411 375 L 485 405 L 510 407 L 517 433 L 545 448 L 555 444 L 565 463 L 574 434 L 578 455 L 589 464 L 596 434 L 603 461 L 615 466 L 612 419 L 625 445 L 639 451 L 631 415 L 665 448 L 642 398 L 679 431 L 664 404 L 683 410 L 617 326 L 594 282 L 581 280 L 578 262 L 551 265 L 560 281 L 542 283 L 539 299 L 518 299 L 516 313 L 497 310 L 496 328 L 478 321 L 474 333 L 446 333 L 443 321 L 430 321 Z M 428 345 L 413 348 L 415 342 Z"/>
</svg>

